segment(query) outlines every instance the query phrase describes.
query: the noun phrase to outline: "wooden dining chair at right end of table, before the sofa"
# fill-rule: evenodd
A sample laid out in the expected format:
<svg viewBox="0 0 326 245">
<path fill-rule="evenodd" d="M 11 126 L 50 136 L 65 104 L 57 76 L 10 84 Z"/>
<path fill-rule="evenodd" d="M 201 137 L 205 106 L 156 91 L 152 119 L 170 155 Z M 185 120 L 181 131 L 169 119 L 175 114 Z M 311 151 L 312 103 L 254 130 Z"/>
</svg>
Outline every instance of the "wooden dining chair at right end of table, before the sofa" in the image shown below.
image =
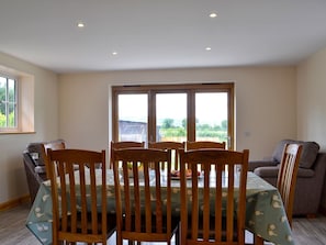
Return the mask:
<svg viewBox="0 0 326 245">
<path fill-rule="evenodd" d="M 280 162 L 277 188 L 282 198 L 288 221 L 292 226 L 292 211 L 302 145 L 285 144 Z M 255 235 L 255 244 L 262 245 L 263 240 Z"/>
</svg>

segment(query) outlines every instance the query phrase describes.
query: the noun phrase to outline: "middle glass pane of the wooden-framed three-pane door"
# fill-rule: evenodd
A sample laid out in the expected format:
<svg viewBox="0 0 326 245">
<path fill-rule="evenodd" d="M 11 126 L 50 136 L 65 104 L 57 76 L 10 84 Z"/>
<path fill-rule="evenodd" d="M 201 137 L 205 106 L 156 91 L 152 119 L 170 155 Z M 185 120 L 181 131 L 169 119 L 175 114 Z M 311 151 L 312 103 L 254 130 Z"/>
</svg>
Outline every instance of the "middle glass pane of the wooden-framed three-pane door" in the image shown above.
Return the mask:
<svg viewBox="0 0 326 245">
<path fill-rule="evenodd" d="M 187 141 L 187 93 L 156 94 L 156 141 Z"/>
</svg>

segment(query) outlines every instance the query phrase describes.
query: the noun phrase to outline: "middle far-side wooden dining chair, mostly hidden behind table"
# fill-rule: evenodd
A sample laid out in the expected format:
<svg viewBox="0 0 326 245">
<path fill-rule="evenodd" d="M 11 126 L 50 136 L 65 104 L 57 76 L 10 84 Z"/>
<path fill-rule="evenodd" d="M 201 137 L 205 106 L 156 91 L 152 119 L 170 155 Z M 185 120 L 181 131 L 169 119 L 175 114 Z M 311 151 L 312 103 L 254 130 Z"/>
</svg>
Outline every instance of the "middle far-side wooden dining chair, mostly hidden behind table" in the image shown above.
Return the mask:
<svg viewBox="0 0 326 245">
<path fill-rule="evenodd" d="M 179 170 L 179 149 L 184 149 L 184 142 L 148 142 L 148 148 L 171 151 L 171 168 L 175 170 Z"/>
</svg>

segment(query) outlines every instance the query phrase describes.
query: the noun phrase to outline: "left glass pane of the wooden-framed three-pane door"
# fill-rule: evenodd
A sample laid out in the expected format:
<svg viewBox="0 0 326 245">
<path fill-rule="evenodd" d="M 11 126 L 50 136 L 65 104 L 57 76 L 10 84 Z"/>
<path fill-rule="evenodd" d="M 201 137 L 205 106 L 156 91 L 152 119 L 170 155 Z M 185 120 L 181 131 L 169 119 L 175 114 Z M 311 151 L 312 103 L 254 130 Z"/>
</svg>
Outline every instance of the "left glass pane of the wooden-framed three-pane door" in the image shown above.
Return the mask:
<svg viewBox="0 0 326 245">
<path fill-rule="evenodd" d="M 147 94 L 119 94 L 117 100 L 119 141 L 147 142 Z"/>
</svg>

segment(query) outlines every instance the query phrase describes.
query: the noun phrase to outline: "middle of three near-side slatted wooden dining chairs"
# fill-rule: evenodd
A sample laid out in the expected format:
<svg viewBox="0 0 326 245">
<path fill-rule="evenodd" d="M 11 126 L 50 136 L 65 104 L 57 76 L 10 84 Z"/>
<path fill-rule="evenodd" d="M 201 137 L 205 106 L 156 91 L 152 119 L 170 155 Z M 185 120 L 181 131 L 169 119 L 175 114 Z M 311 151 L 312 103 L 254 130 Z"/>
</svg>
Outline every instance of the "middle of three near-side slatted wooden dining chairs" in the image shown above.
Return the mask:
<svg viewBox="0 0 326 245">
<path fill-rule="evenodd" d="M 123 240 L 170 244 L 172 236 L 178 236 L 179 218 L 172 218 L 171 176 L 167 175 L 170 169 L 170 151 L 113 149 L 116 244 L 122 245 Z"/>
</svg>

